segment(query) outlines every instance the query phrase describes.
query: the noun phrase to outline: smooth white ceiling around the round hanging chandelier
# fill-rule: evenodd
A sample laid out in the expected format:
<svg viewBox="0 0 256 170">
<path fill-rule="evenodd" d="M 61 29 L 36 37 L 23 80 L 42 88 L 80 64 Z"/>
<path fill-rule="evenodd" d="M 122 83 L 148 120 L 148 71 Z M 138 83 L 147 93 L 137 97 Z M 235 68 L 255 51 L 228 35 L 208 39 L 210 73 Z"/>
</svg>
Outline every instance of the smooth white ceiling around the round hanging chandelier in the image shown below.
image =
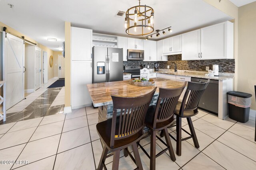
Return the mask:
<svg viewBox="0 0 256 170">
<path fill-rule="evenodd" d="M 172 33 L 161 34 L 158 39 L 232 19 L 203 0 L 141 0 L 141 4 L 154 9 L 155 30 L 172 26 Z M 128 37 L 124 16 L 115 15 L 136 5 L 138 0 L 1 0 L 0 21 L 58 51 L 64 41 L 64 21 L 94 33 Z M 48 37 L 58 41 L 47 41 Z"/>
</svg>

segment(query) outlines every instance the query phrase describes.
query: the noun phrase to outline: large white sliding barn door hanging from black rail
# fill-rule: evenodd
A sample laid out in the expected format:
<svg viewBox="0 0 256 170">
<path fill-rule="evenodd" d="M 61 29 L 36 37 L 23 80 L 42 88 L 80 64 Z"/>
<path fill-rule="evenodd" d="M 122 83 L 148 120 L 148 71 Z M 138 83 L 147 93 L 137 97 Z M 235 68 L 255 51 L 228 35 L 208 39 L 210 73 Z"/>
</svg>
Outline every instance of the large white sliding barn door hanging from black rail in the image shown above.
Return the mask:
<svg viewBox="0 0 256 170">
<path fill-rule="evenodd" d="M 6 109 L 24 99 L 23 39 L 3 32 L 3 80 L 6 81 Z"/>
</svg>

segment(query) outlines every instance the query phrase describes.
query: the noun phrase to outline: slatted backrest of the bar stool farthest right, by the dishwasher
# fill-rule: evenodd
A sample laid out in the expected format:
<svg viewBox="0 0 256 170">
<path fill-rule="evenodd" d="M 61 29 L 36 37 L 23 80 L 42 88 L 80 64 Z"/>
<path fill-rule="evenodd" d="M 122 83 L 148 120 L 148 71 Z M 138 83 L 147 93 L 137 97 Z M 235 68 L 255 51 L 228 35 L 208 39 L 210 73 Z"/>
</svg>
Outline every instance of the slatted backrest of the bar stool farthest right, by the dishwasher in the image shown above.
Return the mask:
<svg viewBox="0 0 256 170">
<path fill-rule="evenodd" d="M 204 90 L 208 86 L 210 79 L 207 82 L 188 82 L 188 88 L 184 94 L 184 98 L 182 100 L 180 115 L 183 115 L 184 111 L 193 110 L 194 113 L 198 113 L 198 104 L 204 93 Z M 210 96 L 209 96 L 210 97 Z"/>
</svg>

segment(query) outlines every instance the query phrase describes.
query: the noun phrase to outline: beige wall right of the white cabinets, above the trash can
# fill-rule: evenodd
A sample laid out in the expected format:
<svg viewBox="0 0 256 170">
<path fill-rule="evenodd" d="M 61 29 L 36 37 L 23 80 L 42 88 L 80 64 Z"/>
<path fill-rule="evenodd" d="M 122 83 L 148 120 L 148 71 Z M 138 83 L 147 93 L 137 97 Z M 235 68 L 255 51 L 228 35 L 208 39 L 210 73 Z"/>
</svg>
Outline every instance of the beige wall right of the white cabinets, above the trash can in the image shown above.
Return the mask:
<svg viewBox="0 0 256 170">
<path fill-rule="evenodd" d="M 238 91 L 252 94 L 256 110 L 256 2 L 239 7 L 238 19 Z"/>
</svg>

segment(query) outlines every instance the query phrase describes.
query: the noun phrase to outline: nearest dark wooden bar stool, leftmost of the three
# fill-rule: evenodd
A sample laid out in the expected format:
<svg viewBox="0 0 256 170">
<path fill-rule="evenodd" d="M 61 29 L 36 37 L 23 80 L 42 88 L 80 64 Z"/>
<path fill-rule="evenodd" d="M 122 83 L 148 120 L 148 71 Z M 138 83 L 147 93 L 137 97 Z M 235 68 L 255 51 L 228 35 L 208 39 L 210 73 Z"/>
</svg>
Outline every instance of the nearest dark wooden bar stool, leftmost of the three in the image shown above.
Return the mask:
<svg viewBox="0 0 256 170">
<path fill-rule="evenodd" d="M 96 125 L 100 139 L 104 143 L 98 170 L 102 170 L 103 167 L 106 169 L 104 162 L 108 150 L 114 152 L 112 170 L 118 170 L 120 150 L 130 145 L 132 145 L 135 158 L 130 152 L 128 154 L 137 165 L 136 169 L 143 169 L 136 143 L 144 135 L 146 111 L 155 92 L 156 87 L 152 92 L 143 96 L 130 98 L 111 96 L 113 100 L 113 117 Z"/>
</svg>

